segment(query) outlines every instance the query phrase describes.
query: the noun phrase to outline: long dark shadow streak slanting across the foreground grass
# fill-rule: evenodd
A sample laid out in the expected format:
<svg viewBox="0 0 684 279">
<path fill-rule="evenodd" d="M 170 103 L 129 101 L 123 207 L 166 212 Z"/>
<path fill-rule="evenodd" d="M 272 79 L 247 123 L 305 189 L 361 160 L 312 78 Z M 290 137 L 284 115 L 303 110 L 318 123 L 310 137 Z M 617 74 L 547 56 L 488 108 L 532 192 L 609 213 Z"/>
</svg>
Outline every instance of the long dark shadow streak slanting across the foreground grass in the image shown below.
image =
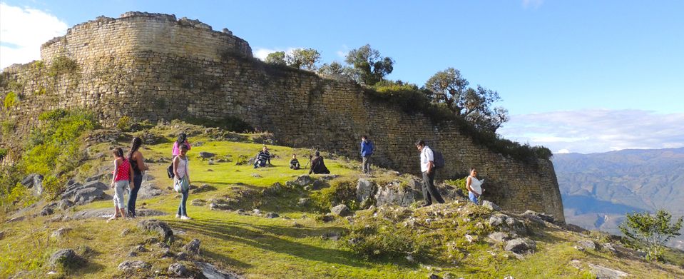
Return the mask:
<svg viewBox="0 0 684 279">
<path fill-rule="evenodd" d="M 270 250 L 275 253 L 284 253 L 303 258 L 306 260 L 313 260 L 324 263 L 332 263 L 336 265 L 348 265 L 355 268 L 369 268 L 370 265 L 362 263 L 361 259 L 351 252 L 344 250 L 335 250 L 329 248 L 320 248 L 312 245 L 293 242 L 278 238 L 267 233 L 274 233 L 272 230 L 279 230 L 270 228 L 268 226 L 254 226 L 253 228 L 263 228 L 260 231 L 250 230 L 240 225 L 227 225 L 220 220 L 193 220 L 193 222 L 170 221 L 171 225 L 185 230 L 195 230 L 203 235 L 208 235 L 221 240 L 243 243 L 254 248 Z M 302 229 L 305 231 L 318 232 L 319 230 Z M 277 232 L 275 232 L 277 234 Z M 290 231 L 288 233 L 293 233 Z M 223 257 L 223 255 L 219 255 Z"/>
</svg>

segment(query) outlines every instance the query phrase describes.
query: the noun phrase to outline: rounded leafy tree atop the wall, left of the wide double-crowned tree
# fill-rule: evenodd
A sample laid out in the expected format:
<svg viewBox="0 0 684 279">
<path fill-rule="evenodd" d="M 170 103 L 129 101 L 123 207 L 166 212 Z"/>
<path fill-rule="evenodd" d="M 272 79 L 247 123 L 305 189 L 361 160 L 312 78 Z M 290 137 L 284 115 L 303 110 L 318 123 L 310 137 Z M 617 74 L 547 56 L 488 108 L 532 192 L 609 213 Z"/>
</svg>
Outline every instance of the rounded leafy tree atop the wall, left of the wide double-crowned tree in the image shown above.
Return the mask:
<svg viewBox="0 0 684 279">
<path fill-rule="evenodd" d="M 352 78 L 368 86 L 382 81 L 384 76 L 394 70 L 394 60 L 380 56 L 380 52 L 372 49 L 369 44 L 349 51 L 344 62 L 352 66 L 349 70 Z"/>
</svg>

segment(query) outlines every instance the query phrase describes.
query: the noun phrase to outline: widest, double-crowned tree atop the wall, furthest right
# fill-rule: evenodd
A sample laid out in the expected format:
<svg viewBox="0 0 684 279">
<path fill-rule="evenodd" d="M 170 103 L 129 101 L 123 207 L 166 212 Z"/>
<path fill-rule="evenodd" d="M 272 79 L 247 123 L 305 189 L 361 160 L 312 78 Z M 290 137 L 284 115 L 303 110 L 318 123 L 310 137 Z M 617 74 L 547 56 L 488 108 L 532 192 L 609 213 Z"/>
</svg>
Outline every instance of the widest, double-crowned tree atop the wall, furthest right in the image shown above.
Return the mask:
<svg viewBox="0 0 684 279">
<path fill-rule="evenodd" d="M 495 133 L 509 120 L 506 108 L 492 108 L 492 103 L 501 101 L 499 93 L 483 86 L 468 87 L 469 82 L 461 71 L 447 68 L 430 77 L 425 83 L 428 97 L 435 103 L 446 103 L 456 116 L 466 119 L 479 131 Z"/>
</svg>

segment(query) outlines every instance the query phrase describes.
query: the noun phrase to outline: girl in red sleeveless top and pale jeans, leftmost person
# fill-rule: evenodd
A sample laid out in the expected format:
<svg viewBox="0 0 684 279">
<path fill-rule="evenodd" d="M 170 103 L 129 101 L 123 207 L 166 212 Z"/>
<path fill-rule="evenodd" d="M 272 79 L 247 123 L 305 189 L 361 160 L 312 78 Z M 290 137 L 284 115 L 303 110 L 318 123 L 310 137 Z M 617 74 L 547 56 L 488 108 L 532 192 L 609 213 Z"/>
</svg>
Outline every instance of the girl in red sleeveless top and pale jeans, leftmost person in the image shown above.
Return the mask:
<svg viewBox="0 0 684 279">
<path fill-rule="evenodd" d="M 123 191 L 133 183 L 133 168 L 126 158 L 123 158 L 123 149 L 114 148 L 114 172 L 111 188 L 114 189 L 114 215 L 109 220 L 118 217 L 126 217 L 126 204 L 123 203 Z"/>
</svg>

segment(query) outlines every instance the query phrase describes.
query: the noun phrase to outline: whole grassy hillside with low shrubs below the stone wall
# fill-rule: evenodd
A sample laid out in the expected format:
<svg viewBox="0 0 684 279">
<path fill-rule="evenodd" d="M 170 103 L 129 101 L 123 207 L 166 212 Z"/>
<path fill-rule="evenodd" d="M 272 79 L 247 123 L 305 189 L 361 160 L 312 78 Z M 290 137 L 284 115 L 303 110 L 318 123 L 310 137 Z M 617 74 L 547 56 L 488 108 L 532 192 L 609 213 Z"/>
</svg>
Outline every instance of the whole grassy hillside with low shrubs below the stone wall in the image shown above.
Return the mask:
<svg viewBox="0 0 684 279">
<path fill-rule="evenodd" d="M 34 216 L 46 203 L 2 217 L 0 237 L 0 278 L 147 278 L 168 277 L 167 268 L 179 260 L 163 257 L 164 248 L 153 240 L 154 233 L 136 226 L 144 219 L 155 218 L 167 222 L 174 230 L 175 241 L 170 243 L 174 254 L 193 238 L 201 241 L 201 260 L 224 270 L 233 270 L 245 278 L 428 278 L 436 274 L 442 278 L 592 278 L 589 264 L 622 270 L 634 278 L 681 278 L 684 271 L 678 266 L 684 261 L 680 254 L 667 255 L 672 264 L 646 263 L 630 253 L 610 250 L 578 250 L 578 240 L 593 240 L 598 244 L 615 243 L 606 235 L 576 233 L 547 222 L 534 222 L 523 216 L 509 214 L 520 220 L 529 230 L 527 235 L 536 241 L 530 255 L 518 259 L 504 250 L 504 244 L 488 238 L 500 230 L 490 225 L 492 216 L 501 213 L 474 206 L 466 201 L 449 201 L 428 208 L 382 206 L 360 210 L 360 205 L 349 199 L 359 178 L 368 178 L 384 186 L 391 181 L 408 181 L 409 175 L 376 168 L 372 176 L 359 172 L 358 161 L 338 158 L 324 153 L 328 168 L 336 175 L 319 190 L 310 187 L 289 187 L 306 171 L 288 168 L 292 153 L 306 163 L 310 150 L 270 146 L 273 167 L 253 169 L 250 164 L 239 164 L 260 150 L 268 136 L 262 134 L 234 134 L 198 126 L 158 126 L 136 135 L 160 137 L 159 143 L 145 145 L 143 153 L 153 161 L 170 157 L 170 141 L 178 131 L 188 131 L 195 144 L 189 151 L 191 180 L 194 186 L 208 184 L 208 191 L 193 193 L 188 199 L 188 215 L 193 220 L 174 217 L 178 195 L 170 190 L 166 178 L 168 163 L 149 163 L 148 178 L 163 194 L 138 201 L 138 208 L 159 210 L 168 215 L 141 217 L 133 220 L 104 218 L 64 220 L 56 216 L 73 216 L 83 210 L 112 208 L 111 201 L 98 201 L 76 206 L 55 215 Z M 126 146 L 126 141 L 115 144 L 98 143 L 88 147 L 88 160 L 76 173 L 77 180 L 111 171 L 108 166 L 113 146 Z M 215 153 L 210 163 L 198 158 L 201 151 Z M 104 154 L 100 157 L 98 154 Z M 100 157 L 100 158 L 98 158 Z M 219 162 L 219 160 L 221 162 Z M 322 178 L 322 176 L 312 176 Z M 280 183 L 282 186 L 273 186 Z M 398 183 L 403 185 L 405 183 Z M 298 205 L 301 198 L 310 202 Z M 204 200 L 202 206 L 192 205 Z M 211 210 L 212 201 L 225 201 L 231 210 Z M 325 222 L 325 213 L 335 203 L 346 203 L 359 209 L 349 218 L 337 217 Z M 195 202 L 195 204 L 200 204 Z M 253 213 L 258 209 L 260 213 Z M 243 210 L 243 211 L 239 211 Z M 265 213 L 278 213 L 278 218 L 265 218 Z M 24 220 L 5 223 L 19 215 Z M 52 236 L 60 228 L 69 228 L 61 236 Z M 127 230 L 126 233 L 123 233 Z M 509 232 L 511 233 L 511 232 Z M 339 239 L 337 239 L 339 238 Z M 148 252 L 129 255 L 136 245 L 144 245 Z M 86 246 L 88 248 L 86 248 Z M 87 258 L 80 268 L 58 270 L 48 264 L 50 255 L 60 248 L 73 248 Z M 410 257 L 408 257 L 410 255 Z M 151 270 L 122 273 L 117 269 L 124 260 L 144 260 Z M 183 261 L 189 266 L 190 261 Z M 50 274 L 51 271 L 54 274 Z"/>
</svg>

